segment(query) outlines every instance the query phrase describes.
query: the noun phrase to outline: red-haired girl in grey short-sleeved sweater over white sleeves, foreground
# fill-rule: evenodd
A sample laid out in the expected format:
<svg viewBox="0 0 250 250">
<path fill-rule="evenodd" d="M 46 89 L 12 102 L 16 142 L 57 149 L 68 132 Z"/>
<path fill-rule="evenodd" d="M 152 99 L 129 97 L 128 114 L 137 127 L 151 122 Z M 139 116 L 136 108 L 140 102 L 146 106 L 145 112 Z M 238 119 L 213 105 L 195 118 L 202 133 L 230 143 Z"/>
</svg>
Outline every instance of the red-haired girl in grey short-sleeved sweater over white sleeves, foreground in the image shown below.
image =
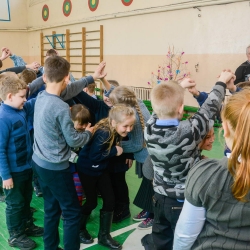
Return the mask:
<svg viewBox="0 0 250 250">
<path fill-rule="evenodd" d="M 190 170 L 174 250 L 249 248 L 250 89 L 229 99 L 222 120 L 232 153 L 201 161 Z"/>
</svg>

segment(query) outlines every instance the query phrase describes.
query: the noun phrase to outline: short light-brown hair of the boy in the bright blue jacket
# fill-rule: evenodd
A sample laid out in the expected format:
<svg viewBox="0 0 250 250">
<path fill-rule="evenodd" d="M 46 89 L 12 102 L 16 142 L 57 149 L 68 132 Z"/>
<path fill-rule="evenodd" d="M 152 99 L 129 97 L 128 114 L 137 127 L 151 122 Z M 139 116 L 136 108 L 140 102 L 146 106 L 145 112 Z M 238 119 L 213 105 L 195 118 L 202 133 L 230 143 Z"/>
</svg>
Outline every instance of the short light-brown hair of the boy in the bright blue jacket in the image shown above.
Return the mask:
<svg viewBox="0 0 250 250">
<path fill-rule="evenodd" d="M 15 95 L 19 90 L 27 89 L 27 84 L 13 74 L 0 75 L 0 98 L 5 101 L 9 93 Z"/>
</svg>

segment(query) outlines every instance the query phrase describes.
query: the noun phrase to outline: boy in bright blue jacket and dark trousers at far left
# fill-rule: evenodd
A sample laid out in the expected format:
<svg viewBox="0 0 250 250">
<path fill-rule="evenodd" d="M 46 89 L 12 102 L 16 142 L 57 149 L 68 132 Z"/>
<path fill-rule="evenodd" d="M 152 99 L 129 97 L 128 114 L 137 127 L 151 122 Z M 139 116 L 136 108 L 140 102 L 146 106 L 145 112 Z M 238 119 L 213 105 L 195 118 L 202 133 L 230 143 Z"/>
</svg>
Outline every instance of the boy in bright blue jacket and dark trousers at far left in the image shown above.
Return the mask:
<svg viewBox="0 0 250 250">
<path fill-rule="evenodd" d="M 32 145 L 27 125 L 35 100 L 26 102 L 26 83 L 15 74 L 0 75 L 0 175 L 6 195 L 6 224 L 11 247 L 33 249 L 27 236 L 42 236 L 43 228 L 33 224 Z"/>
</svg>

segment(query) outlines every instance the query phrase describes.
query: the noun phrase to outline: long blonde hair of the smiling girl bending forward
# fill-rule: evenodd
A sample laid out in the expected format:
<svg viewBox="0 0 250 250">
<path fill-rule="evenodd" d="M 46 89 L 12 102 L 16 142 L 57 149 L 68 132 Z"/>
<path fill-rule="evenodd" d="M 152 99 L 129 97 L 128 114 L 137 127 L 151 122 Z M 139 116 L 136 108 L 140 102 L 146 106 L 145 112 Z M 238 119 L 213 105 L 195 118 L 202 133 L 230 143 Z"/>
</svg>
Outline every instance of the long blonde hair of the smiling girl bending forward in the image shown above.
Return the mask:
<svg viewBox="0 0 250 250">
<path fill-rule="evenodd" d="M 114 140 L 117 139 L 116 143 L 119 143 L 121 140 L 121 136 L 116 132 L 115 128 L 112 126 L 112 121 L 115 121 L 116 123 L 121 123 L 131 116 L 135 117 L 135 112 L 133 108 L 126 107 L 125 105 L 115 105 L 110 109 L 109 116 L 100 120 L 95 125 L 93 135 L 99 129 L 109 132 L 109 138 L 104 142 L 109 144 L 107 154 L 109 154 Z"/>
</svg>

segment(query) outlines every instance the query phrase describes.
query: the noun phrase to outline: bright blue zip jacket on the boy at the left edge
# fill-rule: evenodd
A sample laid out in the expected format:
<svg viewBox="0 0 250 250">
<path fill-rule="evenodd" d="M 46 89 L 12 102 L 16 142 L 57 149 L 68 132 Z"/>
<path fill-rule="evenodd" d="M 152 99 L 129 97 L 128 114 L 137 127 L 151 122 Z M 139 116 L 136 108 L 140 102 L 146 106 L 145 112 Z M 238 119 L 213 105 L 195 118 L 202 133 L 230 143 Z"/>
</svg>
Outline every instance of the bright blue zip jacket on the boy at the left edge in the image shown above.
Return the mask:
<svg viewBox="0 0 250 250">
<path fill-rule="evenodd" d="M 31 168 L 32 144 L 27 119 L 34 114 L 36 99 L 16 109 L 4 103 L 0 106 L 0 175 L 11 178 L 12 172 Z"/>
</svg>

